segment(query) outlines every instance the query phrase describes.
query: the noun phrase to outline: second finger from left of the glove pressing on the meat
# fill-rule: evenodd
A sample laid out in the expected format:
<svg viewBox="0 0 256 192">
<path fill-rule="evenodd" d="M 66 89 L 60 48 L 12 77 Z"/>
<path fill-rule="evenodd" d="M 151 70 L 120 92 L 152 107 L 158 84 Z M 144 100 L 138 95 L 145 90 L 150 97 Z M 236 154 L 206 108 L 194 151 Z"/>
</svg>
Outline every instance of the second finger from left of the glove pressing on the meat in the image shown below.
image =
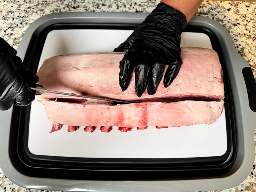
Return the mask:
<svg viewBox="0 0 256 192">
<path fill-rule="evenodd" d="M 150 64 L 153 59 L 150 51 L 137 50 L 139 62 L 136 63 L 134 69 L 135 73 L 135 93 L 138 97 L 141 97 L 147 88 L 147 76 L 150 71 Z"/>
</svg>

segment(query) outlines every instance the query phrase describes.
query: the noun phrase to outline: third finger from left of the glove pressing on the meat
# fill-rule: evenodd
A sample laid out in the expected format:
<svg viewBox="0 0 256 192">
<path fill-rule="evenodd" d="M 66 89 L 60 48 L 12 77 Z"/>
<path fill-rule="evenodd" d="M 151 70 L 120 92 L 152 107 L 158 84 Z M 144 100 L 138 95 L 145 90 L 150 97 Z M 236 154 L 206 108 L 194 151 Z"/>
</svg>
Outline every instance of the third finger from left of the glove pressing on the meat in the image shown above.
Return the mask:
<svg viewBox="0 0 256 192">
<path fill-rule="evenodd" d="M 157 87 L 163 77 L 165 70 L 165 60 L 163 58 L 155 58 L 148 74 L 147 93 L 153 95 L 156 93 Z"/>
</svg>

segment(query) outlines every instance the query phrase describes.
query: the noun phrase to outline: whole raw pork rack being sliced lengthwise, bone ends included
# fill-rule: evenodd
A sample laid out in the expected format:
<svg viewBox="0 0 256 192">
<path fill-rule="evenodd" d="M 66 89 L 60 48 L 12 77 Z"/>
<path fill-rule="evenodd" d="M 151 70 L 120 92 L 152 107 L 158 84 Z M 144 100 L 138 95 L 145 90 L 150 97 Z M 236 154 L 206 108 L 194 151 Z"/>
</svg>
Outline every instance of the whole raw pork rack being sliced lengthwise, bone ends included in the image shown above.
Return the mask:
<svg viewBox="0 0 256 192">
<path fill-rule="evenodd" d="M 216 51 L 181 47 L 183 64 L 173 83 L 165 88 L 162 79 L 154 95 L 145 91 L 140 98 L 134 91 L 134 72 L 128 89 L 122 92 L 119 87 L 119 61 L 124 54 L 56 56 L 44 61 L 37 75 L 38 84 L 46 89 L 138 102 L 116 105 L 43 93 L 39 102 L 45 105 L 48 119 L 53 121 L 51 132 L 59 130 L 63 124 L 69 125 L 68 131 L 84 126 L 86 132 L 93 132 L 96 127 L 109 132 L 112 126 L 117 126 L 121 132 L 127 132 L 132 128 L 144 130 L 148 126 L 159 129 L 212 124 L 222 114 L 224 85 Z"/>
</svg>

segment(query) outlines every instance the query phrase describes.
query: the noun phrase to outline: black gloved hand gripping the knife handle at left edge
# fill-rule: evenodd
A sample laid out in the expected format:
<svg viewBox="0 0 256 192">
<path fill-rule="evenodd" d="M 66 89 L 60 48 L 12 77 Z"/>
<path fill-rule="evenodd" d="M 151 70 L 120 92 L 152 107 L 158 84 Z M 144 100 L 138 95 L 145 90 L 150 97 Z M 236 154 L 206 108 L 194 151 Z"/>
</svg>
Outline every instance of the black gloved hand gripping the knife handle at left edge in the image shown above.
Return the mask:
<svg viewBox="0 0 256 192">
<path fill-rule="evenodd" d="M 34 100 L 29 85 L 39 81 L 36 74 L 26 70 L 17 51 L 0 38 L 0 110 L 12 104 L 27 106 Z"/>
</svg>

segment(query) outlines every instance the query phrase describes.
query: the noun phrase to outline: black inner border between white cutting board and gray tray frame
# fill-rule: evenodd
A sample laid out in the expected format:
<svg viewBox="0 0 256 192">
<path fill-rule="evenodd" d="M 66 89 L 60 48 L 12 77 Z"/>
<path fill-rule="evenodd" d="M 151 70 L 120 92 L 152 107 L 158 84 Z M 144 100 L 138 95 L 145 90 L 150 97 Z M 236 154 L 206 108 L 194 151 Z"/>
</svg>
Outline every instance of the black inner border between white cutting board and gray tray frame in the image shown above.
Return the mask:
<svg viewBox="0 0 256 192">
<path fill-rule="evenodd" d="M 38 63 L 47 34 L 59 29 L 135 29 L 138 25 L 120 24 L 55 24 L 35 33 L 29 43 L 24 63 L 33 72 Z M 168 179 L 184 177 L 219 176 L 227 173 L 237 155 L 236 121 L 229 78 L 221 46 L 208 29 L 188 25 L 185 32 L 200 32 L 209 36 L 217 51 L 223 68 L 225 91 L 225 115 L 227 126 L 227 151 L 223 156 L 176 159 L 114 159 L 114 158 L 72 158 L 39 156 L 28 149 L 30 108 L 14 106 L 10 135 L 10 156 L 13 164 L 23 174 L 31 177 L 66 179 Z M 64 174 L 65 173 L 65 174 Z M 67 174 L 69 173 L 69 174 Z M 184 174 L 186 173 L 186 174 Z M 70 178 L 72 175 L 72 178 Z"/>
</svg>

